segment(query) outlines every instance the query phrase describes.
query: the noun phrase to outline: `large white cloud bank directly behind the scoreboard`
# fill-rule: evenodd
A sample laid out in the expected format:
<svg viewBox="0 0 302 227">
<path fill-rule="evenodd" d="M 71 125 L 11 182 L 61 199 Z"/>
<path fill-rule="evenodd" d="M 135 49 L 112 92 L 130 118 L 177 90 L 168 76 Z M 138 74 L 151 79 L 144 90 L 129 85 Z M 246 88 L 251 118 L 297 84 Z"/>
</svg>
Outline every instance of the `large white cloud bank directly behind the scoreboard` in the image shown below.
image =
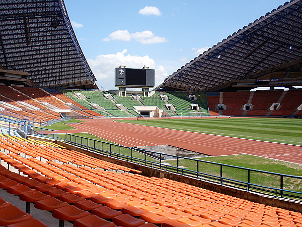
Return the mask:
<svg viewBox="0 0 302 227">
<path fill-rule="evenodd" d="M 150 59 L 148 55 L 138 56 L 127 54 L 127 49 L 113 54 L 100 54 L 96 59 L 88 59 L 88 64 L 92 69 L 99 87 L 104 90 L 116 90 L 114 86 L 114 69 L 119 66 L 127 68 L 141 69 L 143 66 L 155 69 L 155 61 Z M 155 69 L 156 86 L 164 81 L 168 76 L 163 66 Z"/>
</svg>

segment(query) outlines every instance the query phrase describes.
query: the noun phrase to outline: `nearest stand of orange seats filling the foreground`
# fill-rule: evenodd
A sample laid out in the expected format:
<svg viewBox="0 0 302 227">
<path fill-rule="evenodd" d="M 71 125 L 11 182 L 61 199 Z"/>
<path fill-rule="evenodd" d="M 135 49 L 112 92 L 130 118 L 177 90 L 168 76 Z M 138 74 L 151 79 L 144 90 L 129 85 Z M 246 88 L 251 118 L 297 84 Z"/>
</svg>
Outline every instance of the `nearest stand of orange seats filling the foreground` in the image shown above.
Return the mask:
<svg viewBox="0 0 302 227">
<path fill-rule="evenodd" d="M 39 145 L 40 142 L 0 139 L 3 148 L 0 152 L 0 188 L 18 195 L 26 204 L 34 203 L 34 209 L 52 211 L 52 217 L 58 219 L 60 226 L 64 220 L 74 221 L 74 226 L 82 226 L 80 223 L 87 224 L 91 220 L 111 223 L 108 226 L 140 226 L 146 222 L 157 226 L 302 225 L 300 212 L 165 178 L 144 177 L 135 169 L 67 150 L 54 143 Z M 32 219 L 29 208 L 25 213 L 13 208 L 9 202 L 2 201 L 1 204 L 0 209 L 4 206 L 14 213 L 5 218 L 2 215 L 1 225 Z"/>
</svg>

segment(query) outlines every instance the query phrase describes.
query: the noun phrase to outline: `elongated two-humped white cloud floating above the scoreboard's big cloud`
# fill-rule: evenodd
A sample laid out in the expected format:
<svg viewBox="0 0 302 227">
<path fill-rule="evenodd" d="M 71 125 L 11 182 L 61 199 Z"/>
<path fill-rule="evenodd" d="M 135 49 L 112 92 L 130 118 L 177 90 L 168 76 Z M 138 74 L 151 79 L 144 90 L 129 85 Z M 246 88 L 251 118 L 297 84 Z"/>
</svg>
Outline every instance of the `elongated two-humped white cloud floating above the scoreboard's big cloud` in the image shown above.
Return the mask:
<svg viewBox="0 0 302 227">
<path fill-rule="evenodd" d="M 131 38 L 142 44 L 154 44 L 168 42 L 165 37 L 156 36 L 152 31 L 142 31 L 129 33 L 127 30 L 117 30 L 108 35 L 108 37 L 102 39 L 103 41 L 119 40 L 119 41 L 130 41 Z"/>
</svg>

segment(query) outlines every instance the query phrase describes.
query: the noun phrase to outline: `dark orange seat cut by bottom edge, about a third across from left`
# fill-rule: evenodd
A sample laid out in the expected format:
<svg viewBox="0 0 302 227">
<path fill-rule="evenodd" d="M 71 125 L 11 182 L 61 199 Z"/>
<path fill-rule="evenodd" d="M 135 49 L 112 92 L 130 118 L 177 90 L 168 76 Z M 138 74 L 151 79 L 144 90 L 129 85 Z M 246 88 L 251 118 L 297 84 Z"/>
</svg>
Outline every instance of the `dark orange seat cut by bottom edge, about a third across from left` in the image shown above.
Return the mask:
<svg viewBox="0 0 302 227">
<path fill-rule="evenodd" d="M 94 214 L 81 217 L 74 221 L 74 227 L 114 227 L 115 224 L 111 221 L 107 221 L 103 218 L 100 218 Z"/>
</svg>

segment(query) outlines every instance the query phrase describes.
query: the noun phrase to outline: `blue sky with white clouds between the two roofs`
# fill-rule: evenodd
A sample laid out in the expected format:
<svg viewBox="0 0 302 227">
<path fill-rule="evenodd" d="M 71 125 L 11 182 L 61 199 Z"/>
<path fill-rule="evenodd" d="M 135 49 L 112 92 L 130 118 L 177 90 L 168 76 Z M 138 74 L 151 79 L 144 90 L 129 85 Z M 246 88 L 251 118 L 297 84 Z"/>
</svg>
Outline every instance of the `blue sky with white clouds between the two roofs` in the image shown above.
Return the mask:
<svg viewBox="0 0 302 227">
<path fill-rule="evenodd" d="M 284 0 L 64 0 L 85 57 L 104 90 L 114 68 L 155 69 L 156 86 Z"/>
</svg>

